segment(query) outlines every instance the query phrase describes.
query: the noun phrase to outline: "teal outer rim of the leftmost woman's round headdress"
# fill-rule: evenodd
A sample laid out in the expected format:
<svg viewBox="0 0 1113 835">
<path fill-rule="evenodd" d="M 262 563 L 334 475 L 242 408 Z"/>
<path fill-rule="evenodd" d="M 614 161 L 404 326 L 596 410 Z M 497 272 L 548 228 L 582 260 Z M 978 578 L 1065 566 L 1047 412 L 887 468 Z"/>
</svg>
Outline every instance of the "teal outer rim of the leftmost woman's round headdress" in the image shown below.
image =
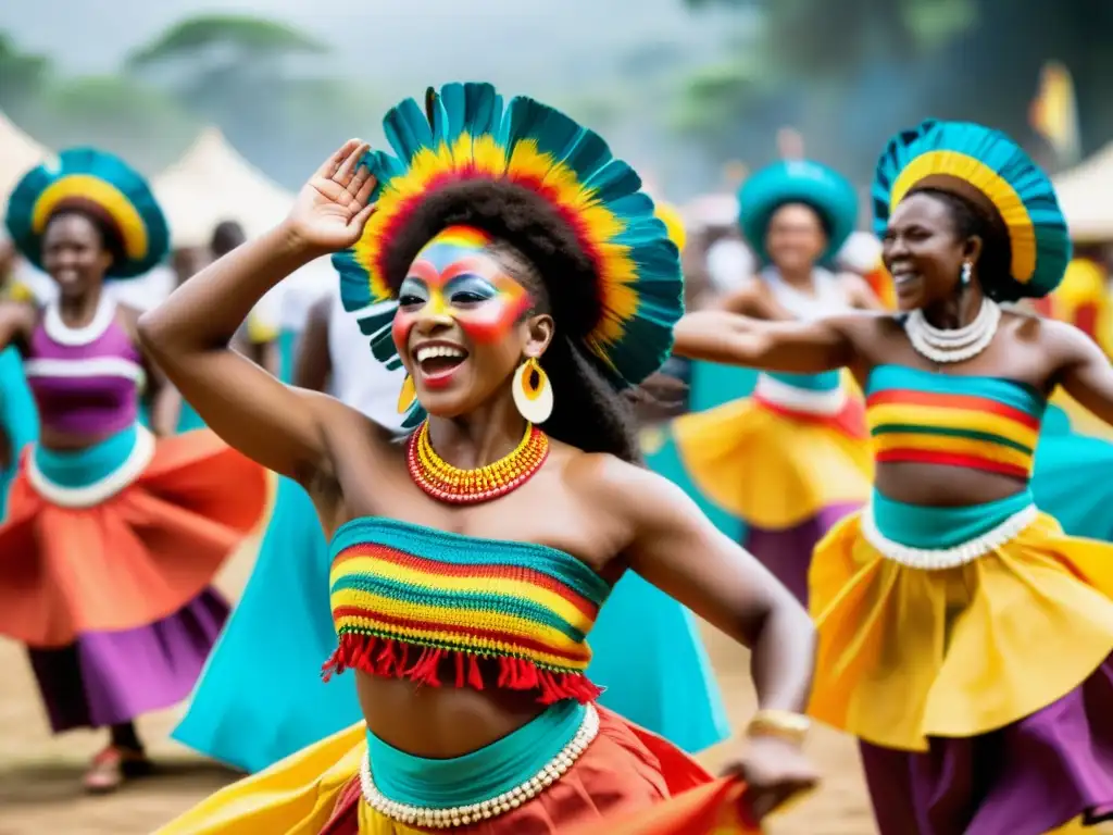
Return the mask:
<svg viewBox="0 0 1113 835">
<path fill-rule="evenodd" d="M 96 148 L 63 150 L 56 165 L 40 165 L 17 184 L 8 200 L 6 225 L 20 255 L 42 269 L 42 229 L 36 232 L 31 225 L 35 207 L 47 188 L 71 175 L 88 175 L 114 186 L 131 204 L 146 230 L 146 253 L 140 257 L 117 259 L 108 268 L 106 278 L 135 278 L 150 272 L 166 257 L 170 248 L 170 229 L 147 180 L 122 159 Z"/>
</svg>

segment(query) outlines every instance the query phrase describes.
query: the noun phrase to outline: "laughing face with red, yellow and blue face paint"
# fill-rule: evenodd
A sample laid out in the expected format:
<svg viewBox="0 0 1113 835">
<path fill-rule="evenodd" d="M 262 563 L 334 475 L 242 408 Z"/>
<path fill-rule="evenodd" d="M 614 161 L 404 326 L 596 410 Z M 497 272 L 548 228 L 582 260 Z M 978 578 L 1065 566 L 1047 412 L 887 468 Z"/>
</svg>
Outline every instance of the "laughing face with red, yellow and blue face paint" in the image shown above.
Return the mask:
<svg viewBox="0 0 1113 835">
<path fill-rule="evenodd" d="M 493 244 L 479 229 L 447 228 L 417 254 L 398 287 L 394 344 L 430 414 L 475 409 L 551 337 L 552 318 L 528 315 L 533 298 Z"/>
</svg>

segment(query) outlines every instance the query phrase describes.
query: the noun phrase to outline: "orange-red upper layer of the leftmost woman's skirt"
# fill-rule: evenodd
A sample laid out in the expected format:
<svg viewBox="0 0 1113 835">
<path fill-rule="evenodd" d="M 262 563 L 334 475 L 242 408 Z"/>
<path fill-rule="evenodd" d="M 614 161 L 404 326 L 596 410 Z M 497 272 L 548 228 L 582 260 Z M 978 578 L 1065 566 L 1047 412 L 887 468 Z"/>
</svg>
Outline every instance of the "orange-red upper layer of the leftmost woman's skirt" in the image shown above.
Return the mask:
<svg viewBox="0 0 1113 835">
<path fill-rule="evenodd" d="M 266 511 L 267 471 L 208 430 L 157 441 L 91 507 L 61 507 L 24 451 L 0 525 L 0 635 L 33 648 L 156 623 L 203 595 Z"/>
</svg>

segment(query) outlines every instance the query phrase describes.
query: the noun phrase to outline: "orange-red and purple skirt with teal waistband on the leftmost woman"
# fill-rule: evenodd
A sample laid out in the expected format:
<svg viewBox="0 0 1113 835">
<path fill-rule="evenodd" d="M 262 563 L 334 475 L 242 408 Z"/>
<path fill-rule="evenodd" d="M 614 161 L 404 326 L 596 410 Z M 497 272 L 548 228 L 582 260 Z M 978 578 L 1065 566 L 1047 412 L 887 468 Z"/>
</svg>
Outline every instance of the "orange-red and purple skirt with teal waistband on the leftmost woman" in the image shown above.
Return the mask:
<svg viewBox="0 0 1113 835">
<path fill-rule="evenodd" d="M 55 730 L 185 698 L 227 616 L 213 577 L 258 524 L 266 471 L 209 432 L 131 426 L 29 448 L 0 525 L 0 635 L 28 645 Z"/>
</svg>

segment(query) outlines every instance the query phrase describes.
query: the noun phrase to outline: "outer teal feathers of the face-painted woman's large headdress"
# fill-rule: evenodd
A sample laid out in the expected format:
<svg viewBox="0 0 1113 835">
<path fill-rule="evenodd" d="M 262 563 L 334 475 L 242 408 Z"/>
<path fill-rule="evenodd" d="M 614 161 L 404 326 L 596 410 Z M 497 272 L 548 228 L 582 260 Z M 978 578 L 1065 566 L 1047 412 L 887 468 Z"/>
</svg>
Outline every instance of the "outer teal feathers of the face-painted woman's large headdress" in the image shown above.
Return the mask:
<svg viewBox="0 0 1113 835">
<path fill-rule="evenodd" d="M 364 165 L 377 179 L 372 199 L 392 198 L 392 180 L 407 171 L 420 150 L 442 144 L 454 149 L 463 134 L 473 139 L 493 137 L 511 168 L 515 149 L 532 143 L 551 160 L 549 171 L 539 171 L 542 181 L 556 177 L 568 181 L 568 174 L 573 174 L 584 195 L 590 195 L 590 205 L 605 207 L 620 225 L 620 232 L 609 239 L 594 242 L 593 254 L 629 257 L 636 268 L 630 286 L 638 296 L 633 314 L 620 322 L 619 338 L 604 344 L 600 335 L 602 321 L 614 322 L 620 316 L 604 310 L 601 322 L 585 340 L 587 347 L 598 356 L 599 366 L 615 387 L 637 384 L 660 367 L 671 350 L 672 326 L 683 313 L 680 254 L 669 240 L 664 224 L 654 216 L 652 199 L 641 191 L 641 178 L 629 165 L 612 157 L 598 134 L 528 97 L 515 97 L 504 106 L 489 84 L 449 84 L 440 90 L 431 89 L 424 107 L 406 99 L 386 114 L 383 125 L 392 153 L 376 151 L 364 158 Z M 461 153 L 465 158 L 454 160 L 457 177 L 487 176 L 467 168 L 470 148 Z M 405 222 L 404 215 L 398 217 L 398 223 Z M 385 237 L 394 232 L 382 234 Z M 388 246 L 390 242 L 380 245 Z M 372 298 L 368 268 L 377 265 L 359 264 L 353 249 L 335 254 L 333 264 L 341 276 L 344 307 L 357 316 L 372 354 L 380 362 L 396 362 L 390 326 L 395 307 L 390 302 L 375 304 L 382 299 Z M 377 279 L 377 286 L 384 286 L 382 277 Z M 605 293 L 601 297 L 605 298 Z"/>
</svg>

